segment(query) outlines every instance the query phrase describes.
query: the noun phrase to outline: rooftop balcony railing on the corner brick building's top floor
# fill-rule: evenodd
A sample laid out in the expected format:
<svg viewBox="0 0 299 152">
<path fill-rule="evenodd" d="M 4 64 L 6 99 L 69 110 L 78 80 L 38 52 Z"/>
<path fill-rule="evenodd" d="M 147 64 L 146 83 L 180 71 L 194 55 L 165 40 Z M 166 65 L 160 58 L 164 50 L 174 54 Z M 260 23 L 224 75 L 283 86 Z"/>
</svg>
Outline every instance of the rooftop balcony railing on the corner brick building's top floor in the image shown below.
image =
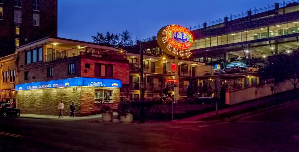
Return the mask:
<svg viewBox="0 0 299 152">
<path fill-rule="evenodd" d="M 96 49 L 90 47 L 75 47 L 72 49 L 56 52 L 54 54 L 45 55 L 44 62 L 51 62 L 63 58 L 85 55 L 111 60 L 127 60 L 126 53 L 112 50 Z"/>
</svg>

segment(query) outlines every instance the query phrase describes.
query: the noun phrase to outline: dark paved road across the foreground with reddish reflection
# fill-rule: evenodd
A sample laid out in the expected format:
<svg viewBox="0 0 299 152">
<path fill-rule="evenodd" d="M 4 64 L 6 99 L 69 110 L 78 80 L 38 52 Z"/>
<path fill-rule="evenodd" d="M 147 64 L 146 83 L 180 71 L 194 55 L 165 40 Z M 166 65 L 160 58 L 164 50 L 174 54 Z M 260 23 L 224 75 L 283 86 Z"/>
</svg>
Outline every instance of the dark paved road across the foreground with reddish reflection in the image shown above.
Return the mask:
<svg viewBox="0 0 299 152">
<path fill-rule="evenodd" d="M 187 124 L 1 119 L 0 151 L 299 151 L 298 109 L 294 102 L 238 121 Z"/>
</svg>

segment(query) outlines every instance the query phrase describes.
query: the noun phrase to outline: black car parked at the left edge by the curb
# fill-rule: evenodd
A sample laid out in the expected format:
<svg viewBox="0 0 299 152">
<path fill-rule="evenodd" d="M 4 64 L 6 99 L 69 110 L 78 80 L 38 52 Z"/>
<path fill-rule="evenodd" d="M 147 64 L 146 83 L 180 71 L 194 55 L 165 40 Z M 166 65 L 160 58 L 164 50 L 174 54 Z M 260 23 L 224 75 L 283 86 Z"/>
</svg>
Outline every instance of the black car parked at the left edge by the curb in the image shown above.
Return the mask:
<svg viewBox="0 0 299 152">
<path fill-rule="evenodd" d="M 4 103 L 0 105 L 0 114 L 2 117 L 15 116 L 20 117 L 21 111 L 12 103 Z"/>
</svg>

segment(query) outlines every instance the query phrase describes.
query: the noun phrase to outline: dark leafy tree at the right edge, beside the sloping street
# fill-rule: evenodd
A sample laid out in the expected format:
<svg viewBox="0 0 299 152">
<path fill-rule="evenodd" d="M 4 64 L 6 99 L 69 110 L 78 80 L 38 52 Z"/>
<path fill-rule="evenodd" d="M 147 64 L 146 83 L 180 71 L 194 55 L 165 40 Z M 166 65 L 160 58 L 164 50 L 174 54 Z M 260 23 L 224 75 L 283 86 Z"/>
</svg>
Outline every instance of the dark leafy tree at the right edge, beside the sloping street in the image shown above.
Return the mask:
<svg viewBox="0 0 299 152">
<path fill-rule="evenodd" d="M 289 80 L 294 89 L 299 82 L 299 52 L 269 56 L 268 65 L 260 70 L 263 79 L 273 80 L 274 84 Z"/>
</svg>

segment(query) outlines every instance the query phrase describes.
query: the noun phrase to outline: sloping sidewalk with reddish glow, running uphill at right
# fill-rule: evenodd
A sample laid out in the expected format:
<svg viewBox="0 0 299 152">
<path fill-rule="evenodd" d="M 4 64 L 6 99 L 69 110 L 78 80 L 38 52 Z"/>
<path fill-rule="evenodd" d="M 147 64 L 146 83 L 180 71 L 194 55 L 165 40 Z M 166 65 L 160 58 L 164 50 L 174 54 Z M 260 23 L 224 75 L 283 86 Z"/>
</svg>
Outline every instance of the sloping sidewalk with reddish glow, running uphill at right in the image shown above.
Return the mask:
<svg viewBox="0 0 299 152">
<path fill-rule="evenodd" d="M 240 103 L 237 105 L 233 105 L 229 108 L 218 110 L 218 115 L 216 115 L 216 111 L 211 111 L 205 114 L 199 114 L 193 117 L 174 120 L 172 123 L 188 123 L 188 122 L 200 122 L 207 120 L 222 120 L 228 117 L 234 117 L 240 114 L 246 114 L 253 111 L 258 111 L 261 109 L 277 106 L 283 103 L 291 102 L 294 100 L 298 100 L 299 91 L 291 90 L 283 93 L 273 94 L 268 97 L 263 97 L 256 100 L 251 100 L 245 103 Z"/>
</svg>

